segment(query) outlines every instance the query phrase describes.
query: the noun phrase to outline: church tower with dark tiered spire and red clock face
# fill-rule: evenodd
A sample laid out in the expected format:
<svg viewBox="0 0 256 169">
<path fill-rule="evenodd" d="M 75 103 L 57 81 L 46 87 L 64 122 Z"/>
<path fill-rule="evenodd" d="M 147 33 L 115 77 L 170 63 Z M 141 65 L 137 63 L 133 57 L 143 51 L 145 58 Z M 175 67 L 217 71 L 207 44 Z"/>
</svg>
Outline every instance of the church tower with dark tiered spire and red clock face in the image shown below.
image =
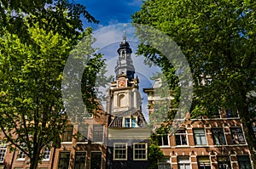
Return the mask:
<svg viewBox="0 0 256 169">
<path fill-rule="evenodd" d="M 119 54 L 117 65 L 114 68 L 115 81 L 111 83 L 108 96 L 108 113 L 119 115 L 127 110 L 141 111 L 142 98 L 139 93 L 139 81 L 135 77 L 135 69 L 131 59 L 130 44 L 125 35 L 117 50 Z"/>
</svg>

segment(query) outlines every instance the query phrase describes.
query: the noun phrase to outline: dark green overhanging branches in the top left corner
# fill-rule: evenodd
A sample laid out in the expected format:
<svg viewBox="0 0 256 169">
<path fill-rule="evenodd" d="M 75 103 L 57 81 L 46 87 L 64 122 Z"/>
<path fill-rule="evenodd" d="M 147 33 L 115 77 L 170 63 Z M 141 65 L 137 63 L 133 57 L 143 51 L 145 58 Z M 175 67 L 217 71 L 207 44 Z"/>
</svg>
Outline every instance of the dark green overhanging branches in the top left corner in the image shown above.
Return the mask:
<svg viewBox="0 0 256 169">
<path fill-rule="evenodd" d="M 26 22 L 24 16 L 26 16 Z M 73 44 L 76 44 L 75 39 L 80 37 L 81 31 L 84 31 L 81 16 L 89 22 L 98 23 L 98 20 L 91 16 L 83 5 L 73 1 L 0 1 L 0 27 L 6 27 L 10 33 L 18 35 L 21 41 L 26 42 L 30 41 L 28 25 L 38 23 L 39 27 L 45 31 L 54 31 L 54 33 L 73 38 Z M 45 25 L 45 21 L 49 21 L 48 25 Z"/>
</svg>

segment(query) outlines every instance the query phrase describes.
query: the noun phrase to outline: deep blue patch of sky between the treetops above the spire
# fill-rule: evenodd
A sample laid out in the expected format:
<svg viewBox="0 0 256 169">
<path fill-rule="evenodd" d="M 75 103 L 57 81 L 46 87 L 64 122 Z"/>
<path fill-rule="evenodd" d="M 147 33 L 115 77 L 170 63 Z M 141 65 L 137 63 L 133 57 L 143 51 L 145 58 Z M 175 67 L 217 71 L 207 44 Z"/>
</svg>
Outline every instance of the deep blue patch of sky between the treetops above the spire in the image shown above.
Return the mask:
<svg viewBox="0 0 256 169">
<path fill-rule="evenodd" d="M 95 30 L 106 25 L 130 23 L 131 14 L 138 11 L 142 0 L 74 0 L 75 3 L 84 4 L 88 12 L 100 24 L 90 24 Z"/>
</svg>

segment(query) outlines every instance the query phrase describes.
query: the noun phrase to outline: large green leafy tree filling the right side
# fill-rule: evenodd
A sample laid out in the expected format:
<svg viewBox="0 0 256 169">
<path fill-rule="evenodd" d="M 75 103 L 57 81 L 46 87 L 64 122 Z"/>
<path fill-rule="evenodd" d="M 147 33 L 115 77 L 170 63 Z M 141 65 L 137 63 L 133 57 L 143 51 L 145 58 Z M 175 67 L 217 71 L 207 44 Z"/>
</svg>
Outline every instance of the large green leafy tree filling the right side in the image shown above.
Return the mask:
<svg viewBox="0 0 256 169">
<path fill-rule="evenodd" d="M 255 10 L 251 0 L 148 0 L 132 15 L 134 23 L 153 26 L 172 37 L 186 56 L 195 90 L 191 115 L 209 115 L 216 107 L 237 110 L 254 165 Z M 159 63 L 173 86 L 173 67 L 163 54 L 146 43 L 139 45 L 137 54 Z"/>
</svg>

